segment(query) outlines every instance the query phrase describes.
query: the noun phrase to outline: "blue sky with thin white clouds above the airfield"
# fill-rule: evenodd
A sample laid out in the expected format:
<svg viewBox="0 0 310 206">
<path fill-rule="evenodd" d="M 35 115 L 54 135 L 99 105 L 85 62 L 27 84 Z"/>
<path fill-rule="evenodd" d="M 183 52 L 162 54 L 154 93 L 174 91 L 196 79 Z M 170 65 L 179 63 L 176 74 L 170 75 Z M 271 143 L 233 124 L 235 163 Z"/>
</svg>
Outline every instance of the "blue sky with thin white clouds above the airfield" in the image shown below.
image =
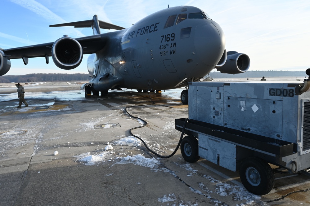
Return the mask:
<svg viewBox="0 0 310 206">
<path fill-rule="evenodd" d="M 180 5 L 199 7 L 222 27 L 226 50 L 249 55 L 249 70 L 304 71 L 310 68 L 310 1 L 288 0 L 1 0 L 0 47 L 7 49 L 92 35 L 91 28 L 51 24 L 92 19 L 130 27 L 161 9 Z M 101 33 L 113 30 L 101 30 Z M 44 58 L 11 60 L 7 75 L 29 73 L 88 73 L 87 55 L 78 68 L 62 70 Z"/>
</svg>

